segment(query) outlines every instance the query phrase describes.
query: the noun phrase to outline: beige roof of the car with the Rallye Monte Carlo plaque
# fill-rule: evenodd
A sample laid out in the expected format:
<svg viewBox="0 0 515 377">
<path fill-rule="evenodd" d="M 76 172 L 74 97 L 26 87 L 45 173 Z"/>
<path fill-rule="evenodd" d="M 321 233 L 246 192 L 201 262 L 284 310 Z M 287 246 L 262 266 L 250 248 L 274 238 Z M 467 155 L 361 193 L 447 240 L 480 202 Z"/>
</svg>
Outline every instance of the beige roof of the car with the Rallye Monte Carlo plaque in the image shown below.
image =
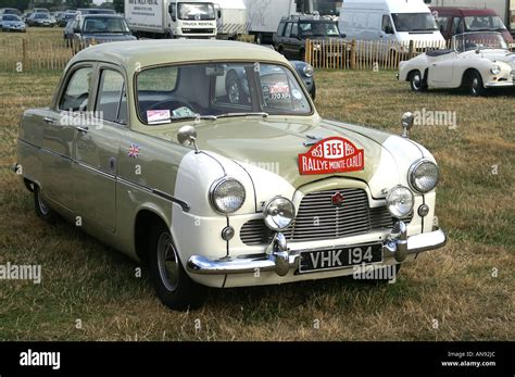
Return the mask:
<svg viewBox="0 0 515 377">
<path fill-rule="evenodd" d="M 77 53 L 70 64 L 104 61 L 124 66 L 129 75 L 139 67 L 183 62 L 275 61 L 288 64 L 279 53 L 252 43 L 210 39 L 153 39 L 109 42 Z"/>
</svg>

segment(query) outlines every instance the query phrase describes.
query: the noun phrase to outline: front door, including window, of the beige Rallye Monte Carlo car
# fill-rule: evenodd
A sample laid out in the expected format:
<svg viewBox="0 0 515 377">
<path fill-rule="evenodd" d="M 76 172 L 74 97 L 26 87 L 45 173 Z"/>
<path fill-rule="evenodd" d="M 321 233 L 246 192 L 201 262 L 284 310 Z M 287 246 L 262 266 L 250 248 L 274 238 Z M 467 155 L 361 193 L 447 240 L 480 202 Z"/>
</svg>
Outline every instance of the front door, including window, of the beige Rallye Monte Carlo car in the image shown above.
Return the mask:
<svg viewBox="0 0 515 377">
<path fill-rule="evenodd" d="M 97 77 L 95 112 L 74 143 L 76 213 L 88 225 L 114 233 L 117 156 L 128 124 L 126 80 L 109 64 L 98 66 Z"/>
</svg>

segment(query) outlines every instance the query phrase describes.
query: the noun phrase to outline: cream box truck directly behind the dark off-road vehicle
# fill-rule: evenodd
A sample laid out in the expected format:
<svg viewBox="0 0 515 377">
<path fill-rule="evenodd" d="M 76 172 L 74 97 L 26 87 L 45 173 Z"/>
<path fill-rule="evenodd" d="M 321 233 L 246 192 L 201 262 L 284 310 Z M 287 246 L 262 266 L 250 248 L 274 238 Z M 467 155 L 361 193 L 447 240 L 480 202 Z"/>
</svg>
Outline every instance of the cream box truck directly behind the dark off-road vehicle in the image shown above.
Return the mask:
<svg viewBox="0 0 515 377">
<path fill-rule="evenodd" d="M 258 43 L 273 43 L 280 20 L 290 15 L 319 14 L 338 17 L 342 0 L 244 0 L 249 34 Z"/>
</svg>

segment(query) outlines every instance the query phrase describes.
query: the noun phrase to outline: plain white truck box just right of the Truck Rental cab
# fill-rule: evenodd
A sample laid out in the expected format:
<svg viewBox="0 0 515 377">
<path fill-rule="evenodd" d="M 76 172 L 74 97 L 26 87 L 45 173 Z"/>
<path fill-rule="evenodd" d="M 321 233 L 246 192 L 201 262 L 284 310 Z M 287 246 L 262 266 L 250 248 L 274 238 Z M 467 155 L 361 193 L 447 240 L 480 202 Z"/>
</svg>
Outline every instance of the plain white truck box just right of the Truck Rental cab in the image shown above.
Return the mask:
<svg viewBox="0 0 515 377">
<path fill-rule="evenodd" d="M 243 0 L 213 0 L 218 16 L 218 39 L 238 39 L 249 33 L 247 5 Z"/>
</svg>

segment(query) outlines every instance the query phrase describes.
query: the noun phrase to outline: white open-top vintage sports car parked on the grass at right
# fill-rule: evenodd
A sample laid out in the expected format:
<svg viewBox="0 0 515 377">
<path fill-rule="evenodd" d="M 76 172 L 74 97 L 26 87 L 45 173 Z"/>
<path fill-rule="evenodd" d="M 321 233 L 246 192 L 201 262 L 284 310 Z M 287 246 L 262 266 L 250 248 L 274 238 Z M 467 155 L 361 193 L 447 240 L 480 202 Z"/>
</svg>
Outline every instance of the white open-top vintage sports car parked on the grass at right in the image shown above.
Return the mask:
<svg viewBox="0 0 515 377">
<path fill-rule="evenodd" d="M 452 48 L 401 62 L 399 79 L 414 91 L 466 87 L 472 96 L 490 88 L 515 87 L 515 54 L 500 33 L 465 33 L 452 37 Z"/>
</svg>

